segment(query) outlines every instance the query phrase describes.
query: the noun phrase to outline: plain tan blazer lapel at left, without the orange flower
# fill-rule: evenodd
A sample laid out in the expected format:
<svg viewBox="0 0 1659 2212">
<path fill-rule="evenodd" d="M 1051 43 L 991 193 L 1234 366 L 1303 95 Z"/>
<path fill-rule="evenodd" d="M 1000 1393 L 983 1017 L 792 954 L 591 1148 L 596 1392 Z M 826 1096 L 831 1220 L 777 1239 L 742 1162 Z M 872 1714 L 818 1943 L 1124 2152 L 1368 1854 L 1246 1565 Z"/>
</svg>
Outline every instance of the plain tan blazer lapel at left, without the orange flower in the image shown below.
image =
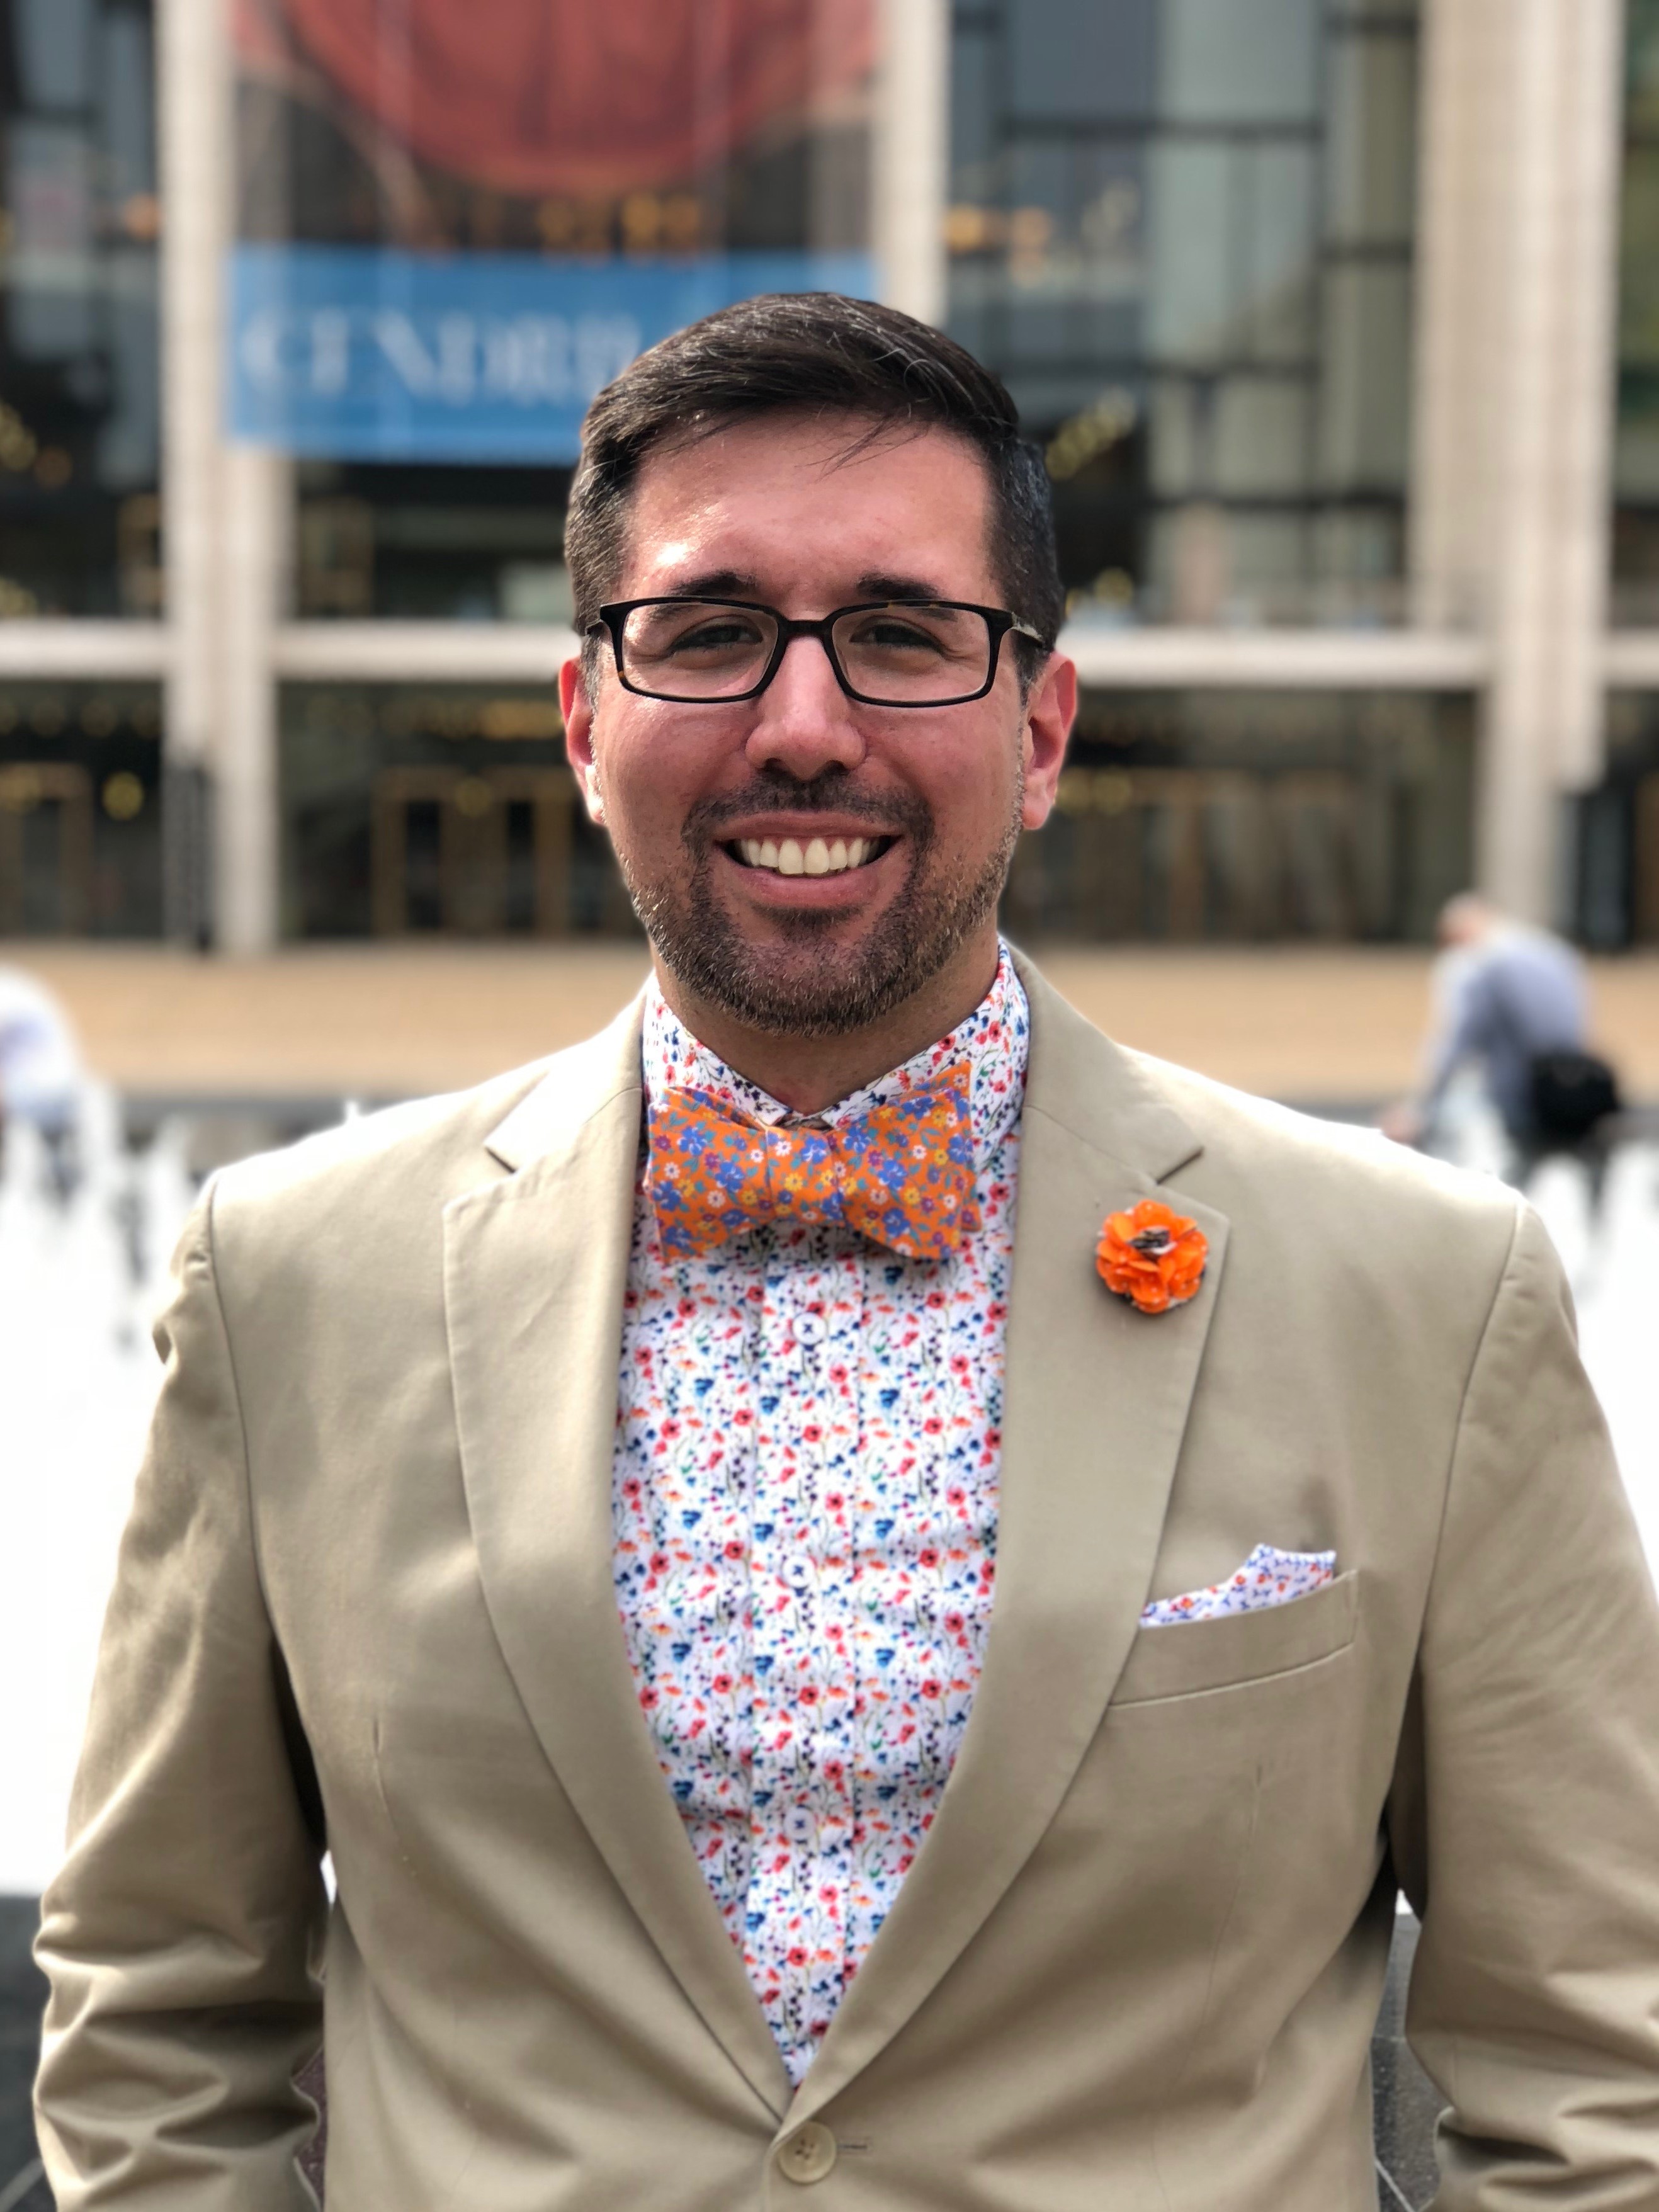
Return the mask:
<svg viewBox="0 0 1659 2212">
<path fill-rule="evenodd" d="M 491 1137 L 515 1172 L 445 1210 L 445 1310 L 478 1571 L 518 1692 L 628 1902 L 774 2117 L 790 2081 L 686 1840 L 611 1582 L 611 1444 L 639 1150 L 639 1009 Z"/>
</svg>

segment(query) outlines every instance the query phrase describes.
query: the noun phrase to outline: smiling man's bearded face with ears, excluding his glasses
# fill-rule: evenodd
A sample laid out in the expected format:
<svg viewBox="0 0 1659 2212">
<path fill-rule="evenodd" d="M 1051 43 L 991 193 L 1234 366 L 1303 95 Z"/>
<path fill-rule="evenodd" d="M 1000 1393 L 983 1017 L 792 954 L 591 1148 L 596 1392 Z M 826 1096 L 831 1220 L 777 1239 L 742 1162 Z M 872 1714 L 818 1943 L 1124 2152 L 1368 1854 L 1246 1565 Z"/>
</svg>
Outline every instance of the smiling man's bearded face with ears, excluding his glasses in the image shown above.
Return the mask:
<svg viewBox="0 0 1659 2212">
<path fill-rule="evenodd" d="M 898 597 L 1002 606 L 975 449 L 927 429 L 847 458 L 865 431 L 763 416 L 650 453 L 615 597 L 794 617 Z M 1018 832 L 1053 805 L 1075 675 L 1053 659 L 1022 701 L 1004 639 L 984 699 L 860 706 L 803 637 L 759 699 L 635 697 L 608 646 L 597 697 L 575 661 L 562 692 L 577 779 L 670 973 L 754 1029 L 836 1035 L 993 938 Z M 792 845 L 807 867 L 823 858 L 814 841 L 830 872 L 792 872 Z"/>
</svg>

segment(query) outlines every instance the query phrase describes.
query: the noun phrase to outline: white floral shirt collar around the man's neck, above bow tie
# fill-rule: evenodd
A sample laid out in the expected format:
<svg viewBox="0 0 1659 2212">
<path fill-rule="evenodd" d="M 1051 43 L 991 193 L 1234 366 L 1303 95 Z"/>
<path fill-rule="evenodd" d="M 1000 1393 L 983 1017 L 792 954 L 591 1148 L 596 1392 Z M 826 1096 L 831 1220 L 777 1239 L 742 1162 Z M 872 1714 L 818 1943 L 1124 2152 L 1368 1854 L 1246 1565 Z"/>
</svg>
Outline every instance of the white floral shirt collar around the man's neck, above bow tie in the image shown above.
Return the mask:
<svg viewBox="0 0 1659 2212">
<path fill-rule="evenodd" d="M 750 1121 L 776 1126 L 803 1119 L 779 1104 L 768 1091 L 761 1091 L 759 1084 L 728 1068 L 706 1044 L 699 1044 L 668 1011 L 655 978 L 646 987 L 641 1057 L 648 1097 L 659 1097 L 664 1091 L 701 1091 Z M 891 1106 L 911 1091 L 936 1082 L 945 1068 L 958 1064 L 967 1068 L 973 1150 L 984 1161 L 987 1152 L 1020 1119 L 1029 1057 L 1031 1009 L 1024 984 L 1013 973 L 1009 947 L 1002 945 L 991 989 L 964 1022 L 958 1022 L 938 1044 L 925 1046 L 902 1066 L 889 1068 L 874 1084 L 865 1084 L 860 1091 L 827 1106 L 821 1115 L 812 1115 L 812 1119 L 827 1128 L 838 1128 L 843 1121 L 869 1113 L 872 1106 Z"/>
</svg>

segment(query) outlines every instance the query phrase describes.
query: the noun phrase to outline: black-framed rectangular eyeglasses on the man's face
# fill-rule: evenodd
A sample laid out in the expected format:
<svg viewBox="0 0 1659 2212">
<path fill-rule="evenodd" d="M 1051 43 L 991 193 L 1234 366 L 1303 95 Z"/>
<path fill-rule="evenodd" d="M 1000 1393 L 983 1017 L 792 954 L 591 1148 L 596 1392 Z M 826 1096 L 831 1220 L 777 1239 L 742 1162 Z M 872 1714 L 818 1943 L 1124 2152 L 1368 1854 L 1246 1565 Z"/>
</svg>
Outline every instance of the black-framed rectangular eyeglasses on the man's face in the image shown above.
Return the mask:
<svg viewBox="0 0 1659 2212">
<path fill-rule="evenodd" d="M 759 699 L 792 639 L 816 637 L 863 706 L 967 706 L 995 684 L 1009 630 L 1046 644 L 1020 615 L 967 599 L 869 599 L 816 622 L 748 599 L 615 599 L 586 635 L 611 637 L 617 679 L 641 699 Z"/>
</svg>

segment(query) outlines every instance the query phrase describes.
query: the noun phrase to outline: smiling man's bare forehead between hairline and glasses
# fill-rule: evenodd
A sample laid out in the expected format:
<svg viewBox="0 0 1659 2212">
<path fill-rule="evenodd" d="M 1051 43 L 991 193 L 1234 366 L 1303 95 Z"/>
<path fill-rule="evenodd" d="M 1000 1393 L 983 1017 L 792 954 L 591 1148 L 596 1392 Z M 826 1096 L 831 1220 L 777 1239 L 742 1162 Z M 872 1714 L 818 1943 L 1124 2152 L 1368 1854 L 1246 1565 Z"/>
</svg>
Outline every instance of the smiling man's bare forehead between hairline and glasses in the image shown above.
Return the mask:
<svg viewBox="0 0 1659 2212">
<path fill-rule="evenodd" d="M 860 577 L 883 575 L 987 599 L 989 511 L 984 460 L 956 431 L 759 416 L 646 456 L 622 597 L 710 575 L 779 602 L 845 597 Z"/>
</svg>

